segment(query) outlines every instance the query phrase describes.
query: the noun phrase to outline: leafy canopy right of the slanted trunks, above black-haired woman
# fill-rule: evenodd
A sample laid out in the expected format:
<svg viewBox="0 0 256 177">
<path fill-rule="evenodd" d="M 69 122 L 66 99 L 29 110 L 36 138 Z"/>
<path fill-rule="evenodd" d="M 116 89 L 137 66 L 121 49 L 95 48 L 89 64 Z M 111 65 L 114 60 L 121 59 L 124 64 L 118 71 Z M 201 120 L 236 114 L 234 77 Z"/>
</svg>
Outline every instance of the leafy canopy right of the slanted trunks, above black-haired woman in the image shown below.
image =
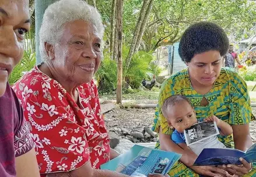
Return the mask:
<svg viewBox="0 0 256 177">
<path fill-rule="evenodd" d="M 160 25 L 148 27 L 143 39 L 148 50 L 156 49 L 175 43 L 192 23 L 209 21 L 222 26 L 230 41 L 239 41 L 253 33 L 255 8 L 255 2 L 247 0 L 154 1 L 151 22 L 159 19 Z M 164 43 L 164 38 L 168 42 Z"/>
</svg>

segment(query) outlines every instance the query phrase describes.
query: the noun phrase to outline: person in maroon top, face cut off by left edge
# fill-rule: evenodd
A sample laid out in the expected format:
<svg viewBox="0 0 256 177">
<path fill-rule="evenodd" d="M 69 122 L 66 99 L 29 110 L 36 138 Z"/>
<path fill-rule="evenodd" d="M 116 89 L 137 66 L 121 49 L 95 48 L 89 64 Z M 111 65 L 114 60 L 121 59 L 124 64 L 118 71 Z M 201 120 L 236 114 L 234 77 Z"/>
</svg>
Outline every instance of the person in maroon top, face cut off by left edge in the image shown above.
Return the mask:
<svg viewBox="0 0 256 177">
<path fill-rule="evenodd" d="M 8 83 L 30 29 L 29 0 L 0 1 L 0 176 L 40 176 L 23 109 Z"/>
</svg>

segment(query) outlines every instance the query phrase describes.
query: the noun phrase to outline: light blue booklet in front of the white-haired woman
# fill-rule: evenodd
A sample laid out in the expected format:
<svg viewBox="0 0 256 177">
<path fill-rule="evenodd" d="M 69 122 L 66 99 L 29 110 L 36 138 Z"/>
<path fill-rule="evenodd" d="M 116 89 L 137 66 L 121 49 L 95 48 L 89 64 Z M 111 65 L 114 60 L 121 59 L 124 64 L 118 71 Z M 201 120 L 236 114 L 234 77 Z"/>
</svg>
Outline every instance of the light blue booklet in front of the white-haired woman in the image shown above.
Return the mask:
<svg viewBox="0 0 256 177">
<path fill-rule="evenodd" d="M 126 153 L 101 165 L 100 169 L 129 176 L 166 175 L 180 157 L 181 154 L 135 145 Z"/>
</svg>

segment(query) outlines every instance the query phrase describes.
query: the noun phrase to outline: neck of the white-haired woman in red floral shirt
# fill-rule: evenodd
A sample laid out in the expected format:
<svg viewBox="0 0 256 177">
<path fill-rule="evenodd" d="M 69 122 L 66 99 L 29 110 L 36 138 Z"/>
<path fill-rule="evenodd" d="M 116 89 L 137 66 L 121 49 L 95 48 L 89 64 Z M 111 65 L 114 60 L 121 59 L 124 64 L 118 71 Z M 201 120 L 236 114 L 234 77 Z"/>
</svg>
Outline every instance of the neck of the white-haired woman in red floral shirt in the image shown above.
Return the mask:
<svg viewBox="0 0 256 177">
<path fill-rule="evenodd" d="M 38 69 L 41 70 L 41 72 L 43 72 L 45 75 L 49 76 L 51 79 L 54 79 L 59 84 L 61 84 L 61 86 L 64 87 L 69 95 L 71 95 L 71 97 L 77 102 L 78 92 L 76 91 L 76 88 L 79 86 L 79 84 L 73 83 L 70 80 L 66 80 L 59 76 L 58 73 L 54 72 L 54 70 L 51 69 L 51 66 L 48 65 L 50 64 L 43 63 L 41 66 L 38 66 Z"/>
</svg>

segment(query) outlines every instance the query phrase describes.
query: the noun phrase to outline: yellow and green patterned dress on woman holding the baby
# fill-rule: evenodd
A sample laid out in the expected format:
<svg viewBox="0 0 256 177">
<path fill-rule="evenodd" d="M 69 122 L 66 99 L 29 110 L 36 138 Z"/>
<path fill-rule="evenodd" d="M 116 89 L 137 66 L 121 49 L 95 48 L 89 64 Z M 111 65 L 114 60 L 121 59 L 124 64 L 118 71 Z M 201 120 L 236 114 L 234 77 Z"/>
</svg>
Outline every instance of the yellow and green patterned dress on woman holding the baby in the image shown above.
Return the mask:
<svg viewBox="0 0 256 177">
<path fill-rule="evenodd" d="M 173 132 L 162 114 L 161 107 L 164 100 L 174 94 L 185 95 L 190 100 L 200 121 L 211 115 L 217 116 L 230 125 L 243 125 L 255 120 L 251 112 L 250 97 L 246 82 L 236 72 L 223 68 L 211 91 L 202 95 L 192 88 L 188 69 L 185 69 L 172 75 L 162 84 L 152 127 L 155 132 L 158 132 L 159 126 L 161 126 L 164 134 L 171 134 Z M 201 101 L 204 97 L 208 100 L 209 104 L 202 107 Z M 226 147 L 234 148 L 232 135 L 219 135 L 219 140 Z M 160 148 L 159 142 L 157 142 L 156 148 Z M 180 161 L 174 165 L 169 175 L 184 177 L 199 176 Z M 256 176 L 256 168 L 245 176 Z"/>
</svg>

